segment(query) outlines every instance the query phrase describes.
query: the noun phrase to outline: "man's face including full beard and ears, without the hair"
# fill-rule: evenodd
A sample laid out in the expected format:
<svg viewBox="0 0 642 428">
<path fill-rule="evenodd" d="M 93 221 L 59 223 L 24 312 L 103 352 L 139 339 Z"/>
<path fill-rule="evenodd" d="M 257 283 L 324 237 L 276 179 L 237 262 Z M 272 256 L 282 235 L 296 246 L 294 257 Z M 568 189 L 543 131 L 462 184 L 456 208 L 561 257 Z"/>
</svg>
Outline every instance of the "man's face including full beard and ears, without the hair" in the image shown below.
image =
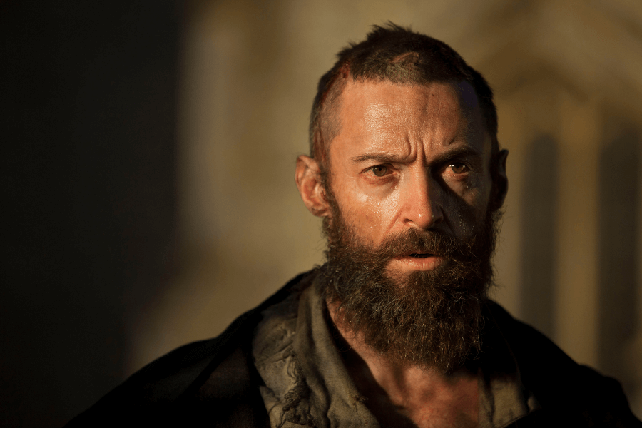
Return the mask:
<svg viewBox="0 0 642 428">
<path fill-rule="evenodd" d="M 479 350 L 496 234 L 477 97 L 467 85 L 354 83 L 340 119 L 323 198 L 310 196 L 314 161 L 297 166 L 304 201 L 325 217 L 327 297 L 377 352 L 454 370 Z"/>
</svg>

